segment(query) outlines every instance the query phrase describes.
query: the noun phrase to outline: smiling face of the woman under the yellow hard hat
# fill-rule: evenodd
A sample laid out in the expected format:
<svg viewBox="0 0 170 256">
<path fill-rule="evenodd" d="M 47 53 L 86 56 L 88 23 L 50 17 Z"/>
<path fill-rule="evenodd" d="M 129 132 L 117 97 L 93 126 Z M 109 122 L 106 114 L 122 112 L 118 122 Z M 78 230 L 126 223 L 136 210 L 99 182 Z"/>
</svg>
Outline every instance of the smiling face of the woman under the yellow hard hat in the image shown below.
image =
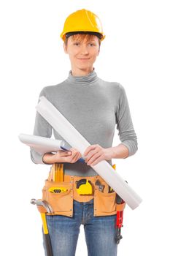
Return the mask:
<svg viewBox="0 0 170 256">
<path fill-rule="evenodd" d="M 69 54 L 72 70 L 93 70 L 93 63 L 99 53 L 98 37 L 93 36 L 90 39 L 68 38 L 67 44 L 63 45 L 65 53 Z"/>
</svg>

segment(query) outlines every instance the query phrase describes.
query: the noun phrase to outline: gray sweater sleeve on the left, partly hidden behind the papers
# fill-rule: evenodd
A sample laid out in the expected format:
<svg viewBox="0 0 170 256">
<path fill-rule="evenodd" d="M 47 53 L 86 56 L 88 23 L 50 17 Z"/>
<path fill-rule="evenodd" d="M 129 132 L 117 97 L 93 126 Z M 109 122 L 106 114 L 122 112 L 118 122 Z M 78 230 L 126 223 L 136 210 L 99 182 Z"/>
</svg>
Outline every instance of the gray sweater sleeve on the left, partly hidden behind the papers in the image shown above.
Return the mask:
<svg viewBox="0 0 170 256">
<path fill-rule="evenodd" d="M 39 94 L 39 97 L 45 96 L 45 90 L 42 89 L 41 93 Z M 36 118 L 35 118 L 35 125 L 34 125 L 34 135 L 36 136 L 43 136 L 46 138 L 50 138 L 52 135 L 52 127 L 50 124 L 47 123 L 45 118 L 43 118 L 38 112 L 36 112 Z M 44 154 L 40 154 L 34 149 L 30 149 L 30 154 L 31 154 L 31 160 L 35 164 L 45 164 L 42 161 L 42 157 Z"/>
</svg>

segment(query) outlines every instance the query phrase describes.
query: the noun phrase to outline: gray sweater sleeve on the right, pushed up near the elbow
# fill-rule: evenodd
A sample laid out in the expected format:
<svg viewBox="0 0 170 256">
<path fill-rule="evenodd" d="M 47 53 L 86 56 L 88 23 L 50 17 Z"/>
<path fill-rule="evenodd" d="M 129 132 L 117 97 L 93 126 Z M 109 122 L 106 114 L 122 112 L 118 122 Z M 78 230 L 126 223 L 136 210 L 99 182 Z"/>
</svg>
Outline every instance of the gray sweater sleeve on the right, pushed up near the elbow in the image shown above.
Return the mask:
<svg viewBox="0 0 170 256">
<path fill-rule="evenodd" d="M 128 99 L 125 94 L 125 89 L 120 86 L 120 94 L 117 102 L 116 124 L 120 141 L 128 148 L 129 157 L 136 153 L 137 137 L 134 131 L 134 126 L 131 120 L 131 113 L 128 105 Z"/>
</svg>

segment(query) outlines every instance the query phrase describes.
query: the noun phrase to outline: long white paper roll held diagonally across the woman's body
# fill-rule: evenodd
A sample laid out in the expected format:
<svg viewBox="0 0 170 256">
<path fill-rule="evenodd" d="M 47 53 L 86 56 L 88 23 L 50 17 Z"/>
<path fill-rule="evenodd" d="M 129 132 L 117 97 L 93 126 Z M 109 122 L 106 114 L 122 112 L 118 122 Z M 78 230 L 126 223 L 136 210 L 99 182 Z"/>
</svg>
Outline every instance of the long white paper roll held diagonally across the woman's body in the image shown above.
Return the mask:
<svg viewBox="0 0 170 256">
<path fill-rule="evenodd" d="M 44 96 L 39 98 L 39 104 L 36 110 L 45 118 L 45 120 L 55 129 L 73 148 L 77 148 L 84 154 L 85 149 L 90 146 L 80 132 L 50 103 Z M 97 165 L 91 166 L 101 178 L 109 184 L 112 189 L 128 204 L 135 209 L 142 202 L 142 198 L 136 194 L 120 175 L 113 170 L 112 166 L 105 160 Z"/>
</svg>

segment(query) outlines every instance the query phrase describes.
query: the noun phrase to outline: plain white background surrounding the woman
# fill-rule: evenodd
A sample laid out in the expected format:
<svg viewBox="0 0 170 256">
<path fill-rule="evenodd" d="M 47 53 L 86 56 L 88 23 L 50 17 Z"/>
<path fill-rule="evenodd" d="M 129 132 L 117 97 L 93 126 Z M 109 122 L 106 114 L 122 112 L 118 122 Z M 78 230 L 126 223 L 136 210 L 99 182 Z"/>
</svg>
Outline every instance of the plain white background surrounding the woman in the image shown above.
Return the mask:
<svg viewBox="0 0 170 256">
<path fill-rule="evenodd" d="M 44 255 L 40 198 L 47 166 L 34 165 L 19 133 L 34 129 L 35 105 L 44 86 L 68 76 L 60 34 L 66 17 L 95 12 L 106 39 L 96 72 L 125 87 L 139 151 L 116 160 L 117 172 L 143 198 L 125 208 L 119 256 L 170 255 L 169 250 L 169 1 L 1 1 L 1 255 Z M 113 145 L 119 143 L 117 136 Z M 2 252 L 3 251 L 3 252 Z M 77 256 L 87 255 L 83 226 Z"/>
</svg>

